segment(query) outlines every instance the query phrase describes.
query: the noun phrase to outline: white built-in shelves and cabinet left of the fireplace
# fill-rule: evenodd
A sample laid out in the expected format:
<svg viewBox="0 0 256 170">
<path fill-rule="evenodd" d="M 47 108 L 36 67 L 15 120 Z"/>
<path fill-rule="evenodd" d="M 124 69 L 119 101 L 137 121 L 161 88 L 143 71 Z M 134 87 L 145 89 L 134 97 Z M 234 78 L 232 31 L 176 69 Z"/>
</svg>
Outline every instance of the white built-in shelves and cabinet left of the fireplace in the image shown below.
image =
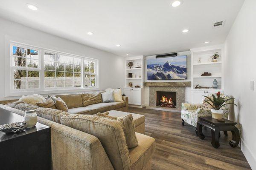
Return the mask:
<svg viewBox="0 0 256 170">
<path fill-rule="evenodd" d="M 130 68 L 128 66 L 129 62 L 133 62 L 133 66 Z M 125 87 L 124 92 L 128 97 L 128 102 L 130 106 L 144 107 L 144 88 L 143 82 L 145 80 L 144 73 L 145 58 L 144 56 L 137 57 L 127 57 L 125 58 Z M 129 73 L 133 74 L 133 78 L 129 78 Z M 129 83 L 132 83 L 132 87 Z M 135 86 L 140 86 L 140 88 L 135 88 Z"/>
</svg>

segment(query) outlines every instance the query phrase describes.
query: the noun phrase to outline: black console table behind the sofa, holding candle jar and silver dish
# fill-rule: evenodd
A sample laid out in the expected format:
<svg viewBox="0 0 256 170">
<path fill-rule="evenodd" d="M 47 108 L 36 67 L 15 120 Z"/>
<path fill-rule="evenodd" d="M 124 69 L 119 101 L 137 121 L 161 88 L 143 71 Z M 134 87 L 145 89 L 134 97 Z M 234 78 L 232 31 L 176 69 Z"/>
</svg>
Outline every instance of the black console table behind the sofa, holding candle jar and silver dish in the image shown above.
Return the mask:
<svg viewBox="0 0 256 170">
<path fill-rule="evenodd" d="M 23 116 L 0 108 L 0 124 L 23 121 Z M 50 127 L 37 122 L 20 133 L 0 131 L 1 170 L 50 170 Z"/>
</svg>

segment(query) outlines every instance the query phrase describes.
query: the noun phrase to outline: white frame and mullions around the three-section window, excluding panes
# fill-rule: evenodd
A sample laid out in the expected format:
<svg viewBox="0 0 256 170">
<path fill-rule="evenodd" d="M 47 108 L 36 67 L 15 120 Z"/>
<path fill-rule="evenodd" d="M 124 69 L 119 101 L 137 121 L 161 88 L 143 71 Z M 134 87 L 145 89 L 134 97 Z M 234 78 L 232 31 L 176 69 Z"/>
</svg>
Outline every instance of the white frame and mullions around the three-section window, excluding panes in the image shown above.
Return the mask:
<svg viewBox="0 0 256 170">
<path fill-rule="evenodd" d="M 98 66 L 99 60 L 89 57 L 84 57 L 80 55 L 74 55 L 66 52 L 60 52 L 57 50 L 47 49 L 44 47 L 33 46 L 26 43 L 20 43 L 17 41 L 11 40 L 10 37 L 5 36 L 5 97 L 9 96 L 20 96 L 20 95 L 31 95 L 31 94 L 53 94 L 53 93 L 64 93 L 64 92 L 84 92 L 84 91 L 94 91 L 99 90 L 99 75 L 98 75 Z M 35 43 L 36 44 L 36 43 Z M 19 46 L 27 49 L 36 49 L 38 50 L 38 68 L 31 67 L 20 67 L 12 65 L 12 47 Z M 65 56 L 81 58 L 81 87 L 59 87 L 59 88 L 45 88 L 44 87 L 44 52 L 61 54 Z M 84 86 L 84 60 L 90 60 L 95 62 L 95 86 L 86 87 Z M 39 88 L 38 89 L 14 89 L 14 78 L 13 70 L 15 69 L 29 69 L 31 71 L 39 71 Z M 74 71 L 74 70 L 73 70 Z M 27 75 L 28 76 L 28 75 Z"/>
</svg>

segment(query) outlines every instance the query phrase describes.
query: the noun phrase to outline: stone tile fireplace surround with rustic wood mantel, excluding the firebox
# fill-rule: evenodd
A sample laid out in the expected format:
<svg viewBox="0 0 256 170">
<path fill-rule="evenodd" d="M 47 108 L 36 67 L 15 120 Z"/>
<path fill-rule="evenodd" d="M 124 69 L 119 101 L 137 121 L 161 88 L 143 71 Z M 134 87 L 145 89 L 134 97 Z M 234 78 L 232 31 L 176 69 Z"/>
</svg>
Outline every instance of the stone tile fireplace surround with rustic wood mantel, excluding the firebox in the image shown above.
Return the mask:
<svg viewBox="0 0 256 170">
<path fill-rule="evenodd" d="M 185 102 L 185 87 L 191 86 L 191 82 L 144 82 L 144 86 L 149 86 L 149 106 L 146 107 L 147 109 L 180 112 L 181 105 L 183 102 Z M 158 107 L 157 91 L 176 92 L 177 108 Z"/>
</svg>

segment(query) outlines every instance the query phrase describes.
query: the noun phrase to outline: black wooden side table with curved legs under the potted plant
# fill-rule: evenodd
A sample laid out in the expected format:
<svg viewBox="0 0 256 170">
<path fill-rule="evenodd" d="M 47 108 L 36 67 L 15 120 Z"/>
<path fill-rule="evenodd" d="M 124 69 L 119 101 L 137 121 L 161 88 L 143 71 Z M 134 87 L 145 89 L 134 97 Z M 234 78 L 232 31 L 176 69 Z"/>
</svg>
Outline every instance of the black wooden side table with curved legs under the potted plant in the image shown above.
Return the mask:
<svg viewBox="0 0 256 170">
<path fill-rule="evenodd" d="M 235 127 L 236 122 L 225 119 L 224 122 L 218 122 L 217 119 L 212 118 L 211 116 L 199 117 L 197 123 L 198 136 L 201 139 L 204 139 L 205 136 L 202 132 L 202 127 L 207 127 L 212 131 L 212 146 L 218 148 L 219 144 L 219 133 L 220 131 L 231 131 L 232 140 L 229 142 L 231 147 L 237 147 L 240 142 L 239 130 Z"/>
</svg>

